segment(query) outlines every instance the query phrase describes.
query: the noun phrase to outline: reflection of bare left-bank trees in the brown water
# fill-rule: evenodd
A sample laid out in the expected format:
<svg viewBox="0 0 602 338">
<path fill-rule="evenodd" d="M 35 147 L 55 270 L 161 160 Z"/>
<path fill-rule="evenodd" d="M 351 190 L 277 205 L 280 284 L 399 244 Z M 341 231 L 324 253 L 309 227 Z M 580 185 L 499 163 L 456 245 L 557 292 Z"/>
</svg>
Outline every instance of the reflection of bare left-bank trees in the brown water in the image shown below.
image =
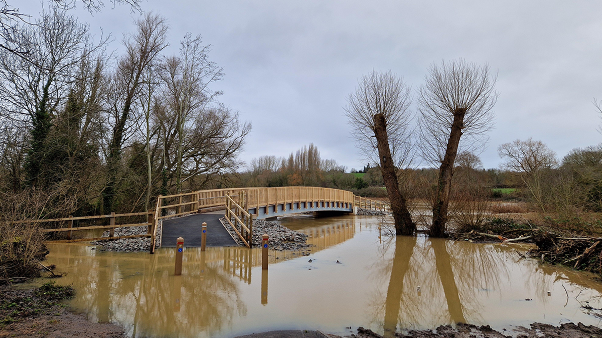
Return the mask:
<svg viewBox="0 0 602 338">
<path fill-rule="evenodd" d="M 69 260 L 74 265 L 67 282 L 78 290 L 76 308 L 93 320 L 123 325 L 130 336 L 213 336 L 230 327 L 235 316 L 246 315 L 233 275 L 250 271 L 249 250 L 188 253 L 182 276 L 177 277 L 172 251 L 98 256 L 72 252 L 55 257 L 53 263 L 65 266 Z M 249 268 L 239 264 L 240 270 L 238 265 L 225 269 L 225 257 L 232 265 L 246 260 Z M 244 271 L 241 275 L 246 276 Z"/>
</svg>

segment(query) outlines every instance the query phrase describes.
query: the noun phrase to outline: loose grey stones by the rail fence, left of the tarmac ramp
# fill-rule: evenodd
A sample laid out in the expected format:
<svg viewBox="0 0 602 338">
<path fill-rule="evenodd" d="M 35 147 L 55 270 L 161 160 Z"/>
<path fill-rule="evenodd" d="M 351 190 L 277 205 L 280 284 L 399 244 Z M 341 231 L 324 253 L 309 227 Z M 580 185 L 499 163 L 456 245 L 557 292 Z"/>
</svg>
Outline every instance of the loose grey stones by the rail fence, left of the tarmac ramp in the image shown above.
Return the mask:
<svg viewBox="0 0 602 338">
<path fill-rule="evenodd" d="M 157 237 L 155 237 L 155 247 L 158 248 L 161 243 L 161 228 L 163 227 L 163 220 L 157 222 Z M 147 232 L 146 227 L 121 227 L 116 228 L 114 236 L 132 236 L 132 235 L 144 235 Z M 109 231 L 102 233 L 101 237 L 108 237 Z M 116 251 L 133 253 L 138 251 L 150 251 L 151 250 L 151 238 L 140 237 L 140 238 L 123 238 L 123 239 L 109 239 L 104 241 L 95 241 L 92 244 L 98 245 L 101 251 Z"/>
</svg>

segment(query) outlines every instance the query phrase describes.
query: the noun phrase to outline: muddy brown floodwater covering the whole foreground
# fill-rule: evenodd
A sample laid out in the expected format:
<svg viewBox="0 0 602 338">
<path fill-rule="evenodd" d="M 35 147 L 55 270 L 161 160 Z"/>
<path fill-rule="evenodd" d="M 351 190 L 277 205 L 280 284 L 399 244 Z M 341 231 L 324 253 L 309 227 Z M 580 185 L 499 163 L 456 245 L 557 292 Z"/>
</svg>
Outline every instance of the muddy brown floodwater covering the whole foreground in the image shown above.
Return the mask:
<svg viewBox="0 0 602 338">
<path fill-rule="evenodd" d="M 315 247 L 309 256 L 271 252 L 267 273 L 261 248 L 186 248 L 177 277 L 173 248 L 150 255 L 54 244 L 47 258 L 67 272 L 57 283 L 73 284 L 76 311 L 132 337 L 289 329 L 343 336 L 359 326 L 392 336 L 454 322 L 506 334 L 532 322 L 600 325 L 582 305 L 602 307 L 602 284 L 524 258 L 528 246 L 380 236 L 379 221 L 285 218 Z"/>
</svg>

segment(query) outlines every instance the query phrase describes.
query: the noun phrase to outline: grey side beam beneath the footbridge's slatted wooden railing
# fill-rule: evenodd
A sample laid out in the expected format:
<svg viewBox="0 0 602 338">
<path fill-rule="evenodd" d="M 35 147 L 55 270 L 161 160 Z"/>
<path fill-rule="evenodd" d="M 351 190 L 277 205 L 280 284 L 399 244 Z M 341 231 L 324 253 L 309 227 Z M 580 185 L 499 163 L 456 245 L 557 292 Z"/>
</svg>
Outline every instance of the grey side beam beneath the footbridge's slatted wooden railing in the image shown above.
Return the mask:
<svg viewBox="0 0 602 338">
<path fill-rule="evenodd" d="M 332 201 L 306 201 L 306 202 L 290 202 L 270 204 L 268 206 L 250 207 L 249 213 L 255 214 L 256 220 L 264 218 L 277 217 L 287 214 L 297 214 L 299 212 L 322 212 L 322 211 L 338 211 L 338 212 L 353 212 L 352 203 L 332 202 Z"/>
</svg>

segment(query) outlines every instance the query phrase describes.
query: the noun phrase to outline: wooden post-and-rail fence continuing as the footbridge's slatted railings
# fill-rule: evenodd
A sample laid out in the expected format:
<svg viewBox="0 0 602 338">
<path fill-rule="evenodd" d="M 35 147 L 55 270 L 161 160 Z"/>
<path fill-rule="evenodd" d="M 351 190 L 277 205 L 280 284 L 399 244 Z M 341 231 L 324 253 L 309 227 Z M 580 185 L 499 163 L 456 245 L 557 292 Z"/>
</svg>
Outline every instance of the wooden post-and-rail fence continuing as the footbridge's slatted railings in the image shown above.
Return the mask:
<svg viewBox="0 0 602 338">
<path fill-rule="evenodd" d="M 370 210 L 389 211 L 390 204 L 386 201 L 372 200 L 366 197 L 360 197 L 353 192 L 332 189 L 318 188 L 312 186 L 286 186 L 278 188 L 232 188 L 232 189 L 211 189 L 184 192 L 175 195 L 159 195 L 154 210 L 148 212 L 133 212 L 128 214 L 83 216 L 53 218 L 50 220 L 31 220 L 17 221 L 15 223 L 57 223 L 61 227 L 52 229 L 43 229 L 42 232 L 67 232 L 66 239 L 59 239 L 49 242 L 84 242 L 84 241 L 104 241 L 111 239 L 125 238 L 151 238 L 151 253 L 155 252 L 155 242 L 157 239 L 158 222 L 164 218 L 179 217 L 187 214 L 196 214 L 197 212 L 208 212 L 211 210 L 224 210 L 226 222 L 232 226 L 241 241 L 246 247 L 252 246 L 253 238 L 253 220 L 256 214 L 249 212 L 255 211 L 259 207 L 272 207 L 275 214 L 286 209 L 287 203 L 305 203 L 305 206 L 311 205 L 313 209 L 322 209 L 325 206 L 346 206 L 361 207 Z M 146 217 L 146 221 L 122 221 L 123 218 Z M 109 219 L 109 225 L 87 225 L 84 221 L 98 221 Z M 83 226 L 74 226 L 74 223 Z M 66 226 L 65 226 L 66 224 Z M 114 236 L 114 229 L 119 227 L 146 227 L 146 233 L 140 235 Z M 76 238 L 72 239 L 73 231 L 81 230 L 109 230 L 108 237 L 95 238 Z M 161 244 L 159 244 L 161 245 Z"/>
</svg>

